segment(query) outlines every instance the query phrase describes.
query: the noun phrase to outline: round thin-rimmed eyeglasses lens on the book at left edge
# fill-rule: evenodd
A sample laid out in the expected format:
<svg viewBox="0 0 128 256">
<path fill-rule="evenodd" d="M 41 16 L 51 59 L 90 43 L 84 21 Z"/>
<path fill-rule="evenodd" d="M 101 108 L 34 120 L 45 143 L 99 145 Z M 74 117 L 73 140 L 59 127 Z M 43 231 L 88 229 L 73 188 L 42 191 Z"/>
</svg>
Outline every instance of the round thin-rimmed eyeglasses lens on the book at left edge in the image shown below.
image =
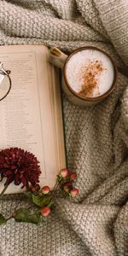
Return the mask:
<svg viewBox="0 0 128 256">
<path fill-rule="evenodd" d="M 0 61 L 0 101 L 8 96 L 12 86 L 11 79 L 9 77 L 9 70 L 3 68 L 3 62 Z"/>
</svg>

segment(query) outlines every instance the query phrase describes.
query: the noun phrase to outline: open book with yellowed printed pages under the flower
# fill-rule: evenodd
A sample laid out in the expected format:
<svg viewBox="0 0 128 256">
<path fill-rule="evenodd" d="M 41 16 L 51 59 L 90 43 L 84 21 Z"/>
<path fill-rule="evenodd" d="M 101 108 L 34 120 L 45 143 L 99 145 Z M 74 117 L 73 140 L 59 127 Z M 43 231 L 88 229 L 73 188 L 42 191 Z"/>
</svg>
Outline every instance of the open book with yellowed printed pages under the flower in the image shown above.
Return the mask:
<svg viewBox="0 0 128 256">
<path fill-rule="evenodd" d="M 0 46 L 0 61 L 12 80 L 9 95 L 0 102 L 0 149 L 18 147 L 35 154 L 40 185 L 52 188 L 66 167 L 59 72 L 43 45 Z M 20 187 L 11 184 L 7 193 L 21 192 Z"/>
</svg>

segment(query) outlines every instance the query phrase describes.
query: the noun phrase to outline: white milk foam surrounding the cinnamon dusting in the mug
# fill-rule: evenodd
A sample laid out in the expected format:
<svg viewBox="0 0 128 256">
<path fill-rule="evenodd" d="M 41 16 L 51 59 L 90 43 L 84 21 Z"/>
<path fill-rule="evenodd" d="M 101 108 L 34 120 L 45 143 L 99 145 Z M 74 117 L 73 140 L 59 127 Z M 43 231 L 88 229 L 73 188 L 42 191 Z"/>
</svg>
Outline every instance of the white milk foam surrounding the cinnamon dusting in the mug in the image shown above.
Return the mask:
<svg viewBox="0 0 128 256">
<path fill-rule="evenodd" d="M 102 63 L 103 71 L 98 75 L 98 90 L 95 88 L 91 97 L 103 95 L 109 90 L 113 84 L 114 68 L 113 63 L 109 59 L 108 55 L 102 53 L 102 51 L 96 49 L 83 49 L 74 54 L 69 61 L 67 61 L 67 81 L 71 88 L 79 93 L 82 89 L 82 75 L 84 67 L 89 63 L 100 61 Z"/>
</svg>

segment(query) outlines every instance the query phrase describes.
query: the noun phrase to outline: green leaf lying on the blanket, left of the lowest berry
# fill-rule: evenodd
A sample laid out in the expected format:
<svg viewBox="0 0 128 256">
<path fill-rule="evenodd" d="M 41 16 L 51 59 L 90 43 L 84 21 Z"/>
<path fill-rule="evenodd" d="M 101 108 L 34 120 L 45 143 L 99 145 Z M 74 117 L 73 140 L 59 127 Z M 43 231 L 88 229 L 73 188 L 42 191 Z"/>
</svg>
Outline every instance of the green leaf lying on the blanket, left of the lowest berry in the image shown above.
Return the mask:
<svg viewBox="0 0 128 256">
<path fill-rule="evenodd" d="M 17 222 L 27 222 L 33 224 L 39 224 L 41 221 L 40 212 L 31 212 L 29 209 L 20 208 L 15 211 L 14 218 Z"/>
</svg>

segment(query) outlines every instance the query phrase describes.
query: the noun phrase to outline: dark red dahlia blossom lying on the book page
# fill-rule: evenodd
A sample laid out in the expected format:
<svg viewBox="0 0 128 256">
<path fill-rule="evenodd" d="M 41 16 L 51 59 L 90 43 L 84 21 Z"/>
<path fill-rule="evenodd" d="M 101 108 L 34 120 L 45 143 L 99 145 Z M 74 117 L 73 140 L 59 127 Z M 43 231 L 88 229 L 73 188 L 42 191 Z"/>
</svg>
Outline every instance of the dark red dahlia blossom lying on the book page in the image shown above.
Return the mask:
<svg viewBox="0 0 128 256">
<path fill-rule="evenodd" d="M 1 179 L 7 177 L 5 185 L 14 182 L 23 187 L 36 186 L 41 174 L 37 158 L 21 148 L 7 148 L 0 151 Z"/>
</svg>

